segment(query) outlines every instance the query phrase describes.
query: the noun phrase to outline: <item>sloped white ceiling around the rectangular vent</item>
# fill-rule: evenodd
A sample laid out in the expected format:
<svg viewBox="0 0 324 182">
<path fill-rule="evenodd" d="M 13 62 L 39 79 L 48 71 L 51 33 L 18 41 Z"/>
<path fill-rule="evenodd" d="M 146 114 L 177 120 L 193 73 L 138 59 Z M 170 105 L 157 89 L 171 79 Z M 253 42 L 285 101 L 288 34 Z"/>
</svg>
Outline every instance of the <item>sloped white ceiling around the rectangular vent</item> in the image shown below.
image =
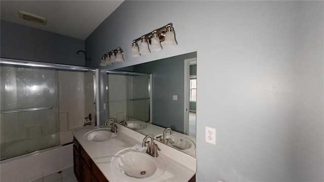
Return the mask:
<svg viewBox="0 0 324 182">
<path fill-rule="evenodd" d="M 0 1 L 1 19 L 86 40 L 123 1 Z M 19 18 L 18 11 L 47 18 L 41 25 Z"/>
</svg>

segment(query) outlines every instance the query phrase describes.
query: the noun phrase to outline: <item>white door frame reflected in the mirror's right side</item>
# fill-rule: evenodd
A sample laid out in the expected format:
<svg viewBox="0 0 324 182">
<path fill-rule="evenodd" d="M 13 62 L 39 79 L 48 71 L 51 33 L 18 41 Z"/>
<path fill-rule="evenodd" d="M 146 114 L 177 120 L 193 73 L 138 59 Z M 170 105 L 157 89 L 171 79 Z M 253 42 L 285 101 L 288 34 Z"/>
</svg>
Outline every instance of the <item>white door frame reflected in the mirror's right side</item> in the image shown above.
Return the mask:
<svg viewBox="0 0 324 182">
<path fill-rule="evenodd" d="M 190 89 L 190 65 L 197 64 L 197 58 L 184 60 L 184 115 L 183 133 L 189 135 L 189 89 Z"/>
</svg>

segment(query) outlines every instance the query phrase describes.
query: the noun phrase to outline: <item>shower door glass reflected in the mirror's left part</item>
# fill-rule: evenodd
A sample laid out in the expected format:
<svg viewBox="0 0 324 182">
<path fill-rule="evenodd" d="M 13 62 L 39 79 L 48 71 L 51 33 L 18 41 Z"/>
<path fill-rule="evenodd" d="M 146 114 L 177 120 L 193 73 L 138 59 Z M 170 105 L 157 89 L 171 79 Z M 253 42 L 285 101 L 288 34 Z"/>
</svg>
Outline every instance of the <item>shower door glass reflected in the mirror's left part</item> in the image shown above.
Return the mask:
<svg viewBox="0 0 324 182">
<path fill-rule="evenodd" d="M 108 118 L 123 120 L 125 115 L 150 121 L 150 77 L 135 72 L 107 73 Z"/>
</svg>

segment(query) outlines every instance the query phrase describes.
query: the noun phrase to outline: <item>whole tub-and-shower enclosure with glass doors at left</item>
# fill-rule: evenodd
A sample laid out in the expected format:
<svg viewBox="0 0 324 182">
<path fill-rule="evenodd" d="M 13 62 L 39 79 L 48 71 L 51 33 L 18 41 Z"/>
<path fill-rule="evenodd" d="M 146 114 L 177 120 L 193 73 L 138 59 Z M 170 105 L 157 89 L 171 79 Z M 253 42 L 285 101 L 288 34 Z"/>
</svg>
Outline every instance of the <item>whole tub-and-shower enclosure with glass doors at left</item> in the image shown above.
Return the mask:
<svg viewBox="0 0 324 182">
<path fill-rule="evenodd" d="M 1 59 L 3 62 L 2 110 L 44 104 L 51 109 L 1 114 L 1 159 L 8 159 L 1 163 L 1 181 L 33 180 L 68 167 L 72 148 L 65 144 L 72 142 L 71 131 L 85 128 L 89 113 L 94 116 L 92 126 L 95 124 L 94 71 L 76 66 L 71 71 L 69 66 L 37 62 L 28 62 L 34 66 L 24 67 L 17 65 L 21 60 L 11 60 L 14 66 L 8 59 Z M 42 66 L 57 66 L 60 70 Z"/>
</svg>

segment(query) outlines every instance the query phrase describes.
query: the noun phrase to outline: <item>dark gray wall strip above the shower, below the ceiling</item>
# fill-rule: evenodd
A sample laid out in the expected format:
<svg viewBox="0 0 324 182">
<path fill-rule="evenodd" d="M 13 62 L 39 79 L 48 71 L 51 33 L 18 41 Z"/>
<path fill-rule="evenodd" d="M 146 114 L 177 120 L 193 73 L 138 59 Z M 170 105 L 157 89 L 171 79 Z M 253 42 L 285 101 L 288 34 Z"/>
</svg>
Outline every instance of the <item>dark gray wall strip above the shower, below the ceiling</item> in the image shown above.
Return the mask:
<svg viewBox="0 0 324 182">
<path fill-rule="evenodd" d="M 85 66 L 85 41 L 1 20 L 2 58 Z"/>
</svg>

